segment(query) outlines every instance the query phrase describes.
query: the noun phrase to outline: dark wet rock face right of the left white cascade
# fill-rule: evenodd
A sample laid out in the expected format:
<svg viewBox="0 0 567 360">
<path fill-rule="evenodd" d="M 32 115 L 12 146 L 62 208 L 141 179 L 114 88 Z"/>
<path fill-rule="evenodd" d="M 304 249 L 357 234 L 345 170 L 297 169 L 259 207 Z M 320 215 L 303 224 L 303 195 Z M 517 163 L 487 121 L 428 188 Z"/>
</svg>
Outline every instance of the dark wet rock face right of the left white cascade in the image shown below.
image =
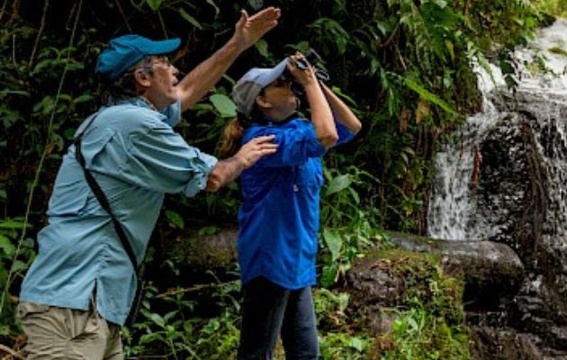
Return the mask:
<svg viewBox="0 0 567 360">
<path fill-rule="evenodd" d="M 508 325 L 567 356 L 567 103 L 518 92 L 499 107 L 508 114 L 482 142 L 477 216 L 526 266 Z"/>
</svg>

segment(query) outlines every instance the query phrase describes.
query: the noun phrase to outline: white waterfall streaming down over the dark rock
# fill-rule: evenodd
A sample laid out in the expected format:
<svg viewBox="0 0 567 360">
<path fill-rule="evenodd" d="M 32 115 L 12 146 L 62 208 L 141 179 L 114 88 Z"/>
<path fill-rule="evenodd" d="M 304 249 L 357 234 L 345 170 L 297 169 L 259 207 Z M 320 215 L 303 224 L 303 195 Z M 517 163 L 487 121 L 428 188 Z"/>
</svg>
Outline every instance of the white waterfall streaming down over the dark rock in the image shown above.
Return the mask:
<svg viewBox="0 0 567 360">
<path fill-rule="evenodd" d="M 539 31 L 527 47 L 515 50 L 518 86 L 513 94 L 507 89 L 500 68 L 491 65 L 488 74 L 475 66 L 482 112 L 469 117 L 437 152 L 428 208 L 430 237 L 487 239 L 498 232 L 499 226 L 486 216 L 486 211 L 480 211 L 476 196 L 482 187 L 478 174 L 482 166 L 481 144 L 500 121 L 517 116 L 515 111 L 525 106 L 536 117 L 533 128 L 549 187 L 546 226 L 554 229 L 546 233 L 567 238 L 566 33 L 567 22 L 560 20 Z M 514 109 L 510 102 L 523 105 Z"/>
</svg>

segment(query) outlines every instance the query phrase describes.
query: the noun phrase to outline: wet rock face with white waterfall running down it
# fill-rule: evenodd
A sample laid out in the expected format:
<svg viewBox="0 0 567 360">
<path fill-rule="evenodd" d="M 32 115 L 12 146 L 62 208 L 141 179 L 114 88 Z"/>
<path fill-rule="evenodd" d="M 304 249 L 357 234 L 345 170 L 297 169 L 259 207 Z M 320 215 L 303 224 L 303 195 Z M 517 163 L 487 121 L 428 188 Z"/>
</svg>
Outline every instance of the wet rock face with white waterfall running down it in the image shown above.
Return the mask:
<svg viewBox="0 0 567 360">
<path fill-rule="evenodd" d="M 482 112 L 442 147 L 428 211 L 431 236 L 490 240 L 518 254 L 518 291 L 471 321 L 491 327 L 475 332 L 484 338 L 531 343 L 536 358 L 567 358 L 567 58 L 553 50 L 565 48 L 565 31 L 557 21 L 510 53 L 514 92 L 500 69 L 480 72 Z"/>
</svg>

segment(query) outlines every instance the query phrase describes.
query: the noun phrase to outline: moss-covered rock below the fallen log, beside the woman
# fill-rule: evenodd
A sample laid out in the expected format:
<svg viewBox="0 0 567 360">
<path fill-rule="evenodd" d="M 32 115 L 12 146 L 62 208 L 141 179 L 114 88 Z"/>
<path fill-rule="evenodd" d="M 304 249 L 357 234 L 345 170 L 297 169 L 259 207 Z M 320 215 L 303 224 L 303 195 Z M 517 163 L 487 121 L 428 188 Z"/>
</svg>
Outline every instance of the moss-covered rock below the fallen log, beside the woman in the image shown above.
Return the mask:
<svg viewBox="0 0 567 360">
<path fill-rule="evenodd" d="M 378 250 L 348 273 L 349 311 L 362 315 L 374 333 L 372 358 L 470 358 L 463 279 L 447 275 L 441 260 L 401 248 Z"/>
</svg>

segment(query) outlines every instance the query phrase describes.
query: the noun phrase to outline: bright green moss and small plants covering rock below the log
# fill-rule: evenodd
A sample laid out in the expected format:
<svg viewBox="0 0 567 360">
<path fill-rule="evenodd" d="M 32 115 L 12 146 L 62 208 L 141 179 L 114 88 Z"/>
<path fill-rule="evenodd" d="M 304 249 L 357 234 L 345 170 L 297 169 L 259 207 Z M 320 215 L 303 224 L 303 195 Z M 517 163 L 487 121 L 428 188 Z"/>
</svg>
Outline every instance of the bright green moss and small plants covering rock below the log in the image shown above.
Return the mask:
<svg viewBox="0 0 567 360">
<path fill-rule="evenodd" d="M 406 291 L 391 332 L 376 339 L 374 358 L 469 359 L 462 280 L 445 275 L 436 257 L 397 249 L 379 257 L 404 279 Z"/>
</svg>

